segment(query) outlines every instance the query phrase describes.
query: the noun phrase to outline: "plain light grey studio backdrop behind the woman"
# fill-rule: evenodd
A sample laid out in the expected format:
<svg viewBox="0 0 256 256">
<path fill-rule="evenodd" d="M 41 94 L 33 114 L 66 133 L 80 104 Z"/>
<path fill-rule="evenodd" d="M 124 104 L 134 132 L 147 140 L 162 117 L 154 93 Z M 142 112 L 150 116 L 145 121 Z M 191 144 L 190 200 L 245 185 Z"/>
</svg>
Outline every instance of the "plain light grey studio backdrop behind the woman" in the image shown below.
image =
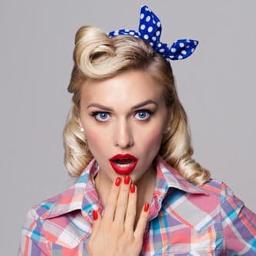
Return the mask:
<svg viewBox="0 0 256 256">
<path fill-rule="evenodd" d="M 76 30 L 136 29 L 143 3 L 161 19 L 162 42 L 200 41 L 190 59 L 173 62 L 194 157 L 256 211 L 254 0 L 1 0 L 1 255 L 16 254 L 30 207 L 72 184 L 62 128 Z"/>
</svg>

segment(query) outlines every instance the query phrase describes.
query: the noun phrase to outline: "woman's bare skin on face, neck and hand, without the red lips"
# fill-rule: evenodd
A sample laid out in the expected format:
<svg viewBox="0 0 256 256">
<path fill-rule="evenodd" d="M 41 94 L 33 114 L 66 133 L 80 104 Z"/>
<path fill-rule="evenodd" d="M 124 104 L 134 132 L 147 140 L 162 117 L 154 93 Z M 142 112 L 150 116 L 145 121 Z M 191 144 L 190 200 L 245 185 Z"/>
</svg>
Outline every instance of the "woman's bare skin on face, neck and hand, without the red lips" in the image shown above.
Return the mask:
<svg viewBox="0 0 256 256">
<path fill-rule="evenodd" d="M 99 163 L 96 190 L 105 207 L 103 217 L 98 214 L 93 223 L 89 254 L 140 254 L 148 214 L 143 205 L 153 197 L 153 160 L 167 131 L 163 87 L 149 73 L 134 70 L 103 81 L 87 80 L 79 111 L 89 150 Z M 129 184 L 109 164 L 109 158 L 118 153 L 138 159 Z M 116 177 L 122 177 L 120 186 L 115 185 Z"/>
</svg>

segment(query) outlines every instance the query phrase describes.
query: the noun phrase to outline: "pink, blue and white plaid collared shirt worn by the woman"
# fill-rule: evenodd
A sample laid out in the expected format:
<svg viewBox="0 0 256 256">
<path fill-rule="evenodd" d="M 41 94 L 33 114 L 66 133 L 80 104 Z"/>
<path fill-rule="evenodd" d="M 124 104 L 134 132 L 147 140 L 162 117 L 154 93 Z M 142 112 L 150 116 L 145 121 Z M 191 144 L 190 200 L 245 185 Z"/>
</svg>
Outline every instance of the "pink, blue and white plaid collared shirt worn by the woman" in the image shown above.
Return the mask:
<svg viewBox="0 0 256 256">
<path fill-rule="evenodd" d="M 256 215 L 224 183 L 196 187 L 157 158 L 157 181 L 140 255 L 256 255 Z M 35 206 L 19 255 L 88 255 L 92 211 L 103 211 L 95 160 L 76 184 Z"/>
</svg>

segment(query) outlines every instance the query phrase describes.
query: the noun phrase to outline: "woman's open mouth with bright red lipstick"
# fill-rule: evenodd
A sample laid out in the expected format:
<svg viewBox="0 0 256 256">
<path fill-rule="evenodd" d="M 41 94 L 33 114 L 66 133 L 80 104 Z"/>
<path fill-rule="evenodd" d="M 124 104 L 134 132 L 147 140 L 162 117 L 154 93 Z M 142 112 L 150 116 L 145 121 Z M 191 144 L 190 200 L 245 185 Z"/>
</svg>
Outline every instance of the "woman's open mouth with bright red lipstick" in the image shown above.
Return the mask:
<svg viewBox="0 0 256 256">
<path fill-rule="evenodd" d="M 131 173 L 136 167 L 138 160 L 133 155 L 126 153 L 124 155 L 117 154 L 109 159 L 109 163 L 113 170 L 121 175 Z"/>
</svg>

